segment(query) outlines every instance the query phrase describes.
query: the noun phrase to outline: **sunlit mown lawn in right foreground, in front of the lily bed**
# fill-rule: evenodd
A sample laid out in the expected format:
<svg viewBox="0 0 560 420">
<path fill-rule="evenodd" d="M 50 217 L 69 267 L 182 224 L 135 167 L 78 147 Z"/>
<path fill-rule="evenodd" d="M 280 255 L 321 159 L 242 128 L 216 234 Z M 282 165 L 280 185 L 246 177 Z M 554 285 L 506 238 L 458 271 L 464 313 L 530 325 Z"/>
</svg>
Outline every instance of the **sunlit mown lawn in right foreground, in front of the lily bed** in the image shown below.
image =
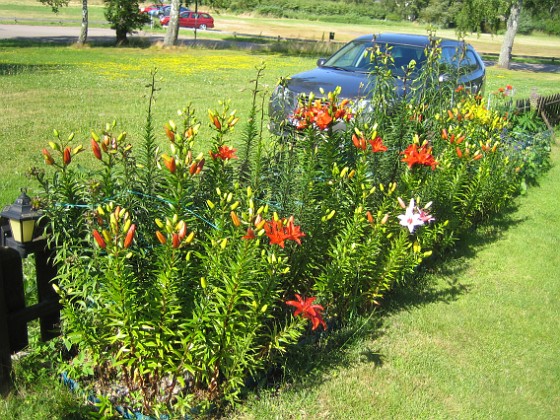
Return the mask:
<svg viewBox="0 0 560 420">
<path fill-rule="evenodd" d="M 385 302 L 377 336 L 333 356 L 344 364 L 253 396 L 234 417 L 557 418 L 558 147 L 553 160 L 514 213 Z"/>
</svg>

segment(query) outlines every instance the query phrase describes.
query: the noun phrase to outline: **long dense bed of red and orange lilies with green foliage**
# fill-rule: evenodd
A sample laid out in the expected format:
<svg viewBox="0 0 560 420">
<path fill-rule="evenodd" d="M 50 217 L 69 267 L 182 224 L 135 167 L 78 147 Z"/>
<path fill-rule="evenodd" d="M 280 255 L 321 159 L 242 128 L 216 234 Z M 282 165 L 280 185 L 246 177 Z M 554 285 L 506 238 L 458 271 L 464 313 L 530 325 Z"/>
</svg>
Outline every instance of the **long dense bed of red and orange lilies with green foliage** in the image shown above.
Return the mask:
<svg viewBox="0 0 560 420">
<path fill-rule="evenodd" d="M 34 174 L 75 354 L 61 369 L 98 395 L 102 414 L 235 404 L 304 335 L 371 313 L 536 176 L 545 141 L 521 157 L 508 146 L 506 91 L 487 108 L 455 88 L 460 75 L 438 81 L 437 42 L 427 57 L 420 84 L 414 63 L 403 69 L 398 96 L 390 55 L 373 51 L 383 66 L 368 101 L 341 101 L 340 90 L 302 98 L 294 129 L 270 142 L 259 66 L 238 149 L 240 120 L 224 100 L 208 111 L 209 151 L 190 105 L 165 124 L 160 150 L 155 74 L 139 152 L 116 123 L 91 133 L 91 153 L 54 133 L 49 170 Z M 84 156 L 96 164 L 80 166 Z"/>
</svg>

